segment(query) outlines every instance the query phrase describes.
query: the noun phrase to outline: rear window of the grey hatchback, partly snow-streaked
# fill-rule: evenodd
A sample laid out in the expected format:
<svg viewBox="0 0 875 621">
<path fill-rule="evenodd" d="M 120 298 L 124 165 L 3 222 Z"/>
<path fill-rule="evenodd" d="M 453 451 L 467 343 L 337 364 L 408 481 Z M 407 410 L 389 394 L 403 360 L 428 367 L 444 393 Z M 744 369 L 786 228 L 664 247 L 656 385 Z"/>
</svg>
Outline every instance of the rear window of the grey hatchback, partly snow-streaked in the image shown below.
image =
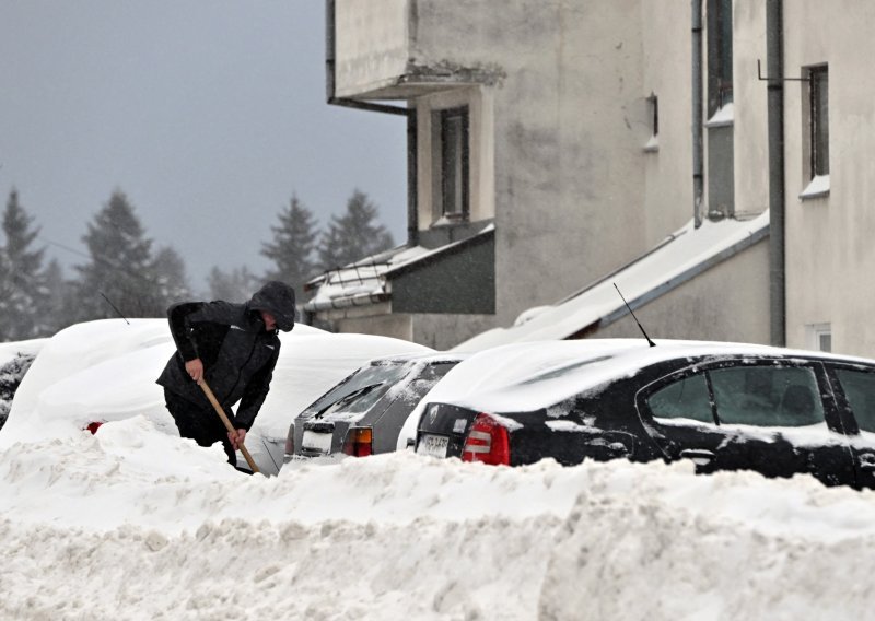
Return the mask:
<svg viewBox="0 0 875 621">
<path fill-rule="evenodd" d="M 361 368 L 319 398 L 307 411 L 315 412 L 316 415 L 365 412 L 407 371 L 404 363 L 375 364 Z"/>
</svg>

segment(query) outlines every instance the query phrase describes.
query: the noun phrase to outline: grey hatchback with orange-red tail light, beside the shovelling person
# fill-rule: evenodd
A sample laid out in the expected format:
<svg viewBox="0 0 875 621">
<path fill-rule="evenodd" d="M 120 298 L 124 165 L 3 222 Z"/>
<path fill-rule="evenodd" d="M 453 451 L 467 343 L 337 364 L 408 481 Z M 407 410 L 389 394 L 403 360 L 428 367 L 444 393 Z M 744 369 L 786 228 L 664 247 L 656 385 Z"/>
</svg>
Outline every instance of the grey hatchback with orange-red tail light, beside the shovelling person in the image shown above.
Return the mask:
<svg viewBox="0 0 875 621">
<path fill-rule="evenodd" d="M 410 412 L 462 358 L 429 353 L 371 361 L 292 421 L 284 462 L 296 457 L 364 457 L 395 450 Z"/>
</svg>

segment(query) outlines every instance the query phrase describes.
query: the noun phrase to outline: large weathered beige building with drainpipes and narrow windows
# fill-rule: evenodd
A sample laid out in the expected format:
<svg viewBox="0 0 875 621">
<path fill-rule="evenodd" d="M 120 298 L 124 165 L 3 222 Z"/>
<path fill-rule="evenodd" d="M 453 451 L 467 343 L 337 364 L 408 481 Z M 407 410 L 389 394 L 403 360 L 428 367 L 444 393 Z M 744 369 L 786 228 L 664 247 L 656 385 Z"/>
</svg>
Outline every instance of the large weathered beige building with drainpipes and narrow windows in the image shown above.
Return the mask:
<svg viewBox="0 0 875 621">
<path fill-rule="evenodd" d="M 329 101 L 408 124 L 409 239 L 369 258 L 368 297 L 338 272 L 308 312 L 448 348 L 585 294 L 690 220 L 771 210 L 771 235 L 696 278 L 653 274 L 639 317 L 867 353 L 873 20 L 856 0 L 328 0 Z"/>
</svg>

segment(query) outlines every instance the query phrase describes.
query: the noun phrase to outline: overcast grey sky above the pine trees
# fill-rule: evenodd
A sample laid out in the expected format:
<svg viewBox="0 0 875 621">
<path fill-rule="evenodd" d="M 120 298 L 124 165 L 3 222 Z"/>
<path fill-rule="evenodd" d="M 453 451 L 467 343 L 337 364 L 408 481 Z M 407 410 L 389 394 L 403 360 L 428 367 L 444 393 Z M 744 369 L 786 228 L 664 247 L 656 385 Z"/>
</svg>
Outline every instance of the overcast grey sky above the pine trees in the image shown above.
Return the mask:
<svg viewBox="0 0 875 621">
<path fill-rule="evenodd" d="M 120 189 L 196 291 L 265 271 L 293 192 L 325 225 L 360 188 L 404 242 L 404 118 L 325 92 L 322 0 L 0 0 L 2 204 L 16 188 L 72 276 Z"/>
</svg>

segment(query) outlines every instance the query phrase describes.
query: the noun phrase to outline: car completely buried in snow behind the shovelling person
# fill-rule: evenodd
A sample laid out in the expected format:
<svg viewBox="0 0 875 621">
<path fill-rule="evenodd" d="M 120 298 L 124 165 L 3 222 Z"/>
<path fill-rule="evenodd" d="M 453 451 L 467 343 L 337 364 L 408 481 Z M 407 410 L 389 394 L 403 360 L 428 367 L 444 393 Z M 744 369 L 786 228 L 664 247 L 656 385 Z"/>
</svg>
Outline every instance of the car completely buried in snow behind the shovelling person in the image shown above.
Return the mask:
<svg viewBox="0 0 875 621">
<path fill-rule="evenodd" d="M 270 392 L 246 438 L 256 465 L 276 473 L 292 417 L 366 361 L 430 352 L 423 345 L 372 335 L 332 335 L 299 324 L 281 332 Z M 155 378 L 175 345 L 166 319 L 102 319 L 40 341 L 39 355 L 18 387 L 0 444 L 63 437 L 98 424 L 143 415 L 177 435 Z M 246 461 L 238 456 L 237 462 Z"/>
</svg>

